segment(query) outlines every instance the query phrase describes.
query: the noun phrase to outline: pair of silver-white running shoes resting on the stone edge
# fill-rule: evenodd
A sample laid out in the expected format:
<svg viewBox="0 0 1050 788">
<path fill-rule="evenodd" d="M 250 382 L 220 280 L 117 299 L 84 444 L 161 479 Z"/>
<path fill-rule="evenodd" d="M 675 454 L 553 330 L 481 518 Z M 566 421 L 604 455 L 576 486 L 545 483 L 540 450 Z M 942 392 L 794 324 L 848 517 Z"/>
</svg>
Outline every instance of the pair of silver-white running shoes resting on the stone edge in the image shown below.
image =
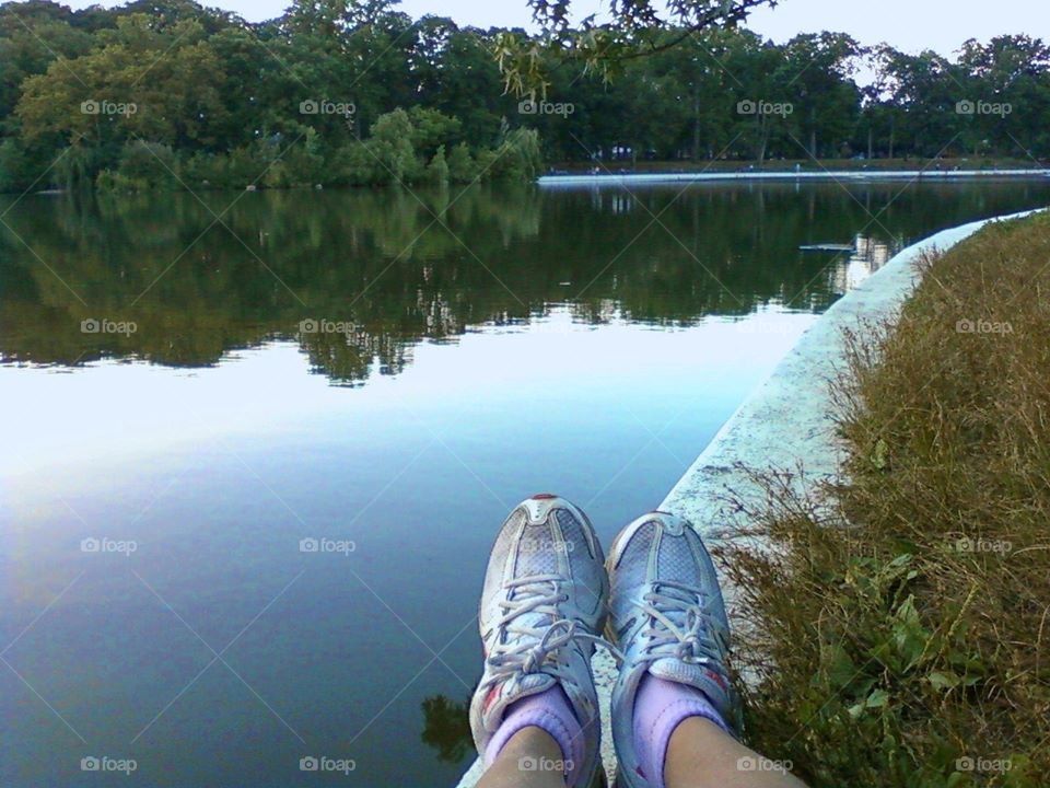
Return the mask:
<svg viewBox="0 0 1050 788">
<path fill-rule="evenodd" d="M 621 784 L 649 786 L 633 739 L 634 698 L 646 674 L 699 690 L 739 729 L 722 592 L 703 542 L 681 518 L 639 518 L 606 561 L 578 507 L 549 494 L 523 501 L 492 548 L 479 622 L 485 672 L 470 704 L 479 752 L 509 706 L 560 686 L 585 733 L 585 757 L 571 781 L 595 784 L 603 773 L 591 657 L 603 644 L 620 662 L 611 728 Z"/>
</svg>

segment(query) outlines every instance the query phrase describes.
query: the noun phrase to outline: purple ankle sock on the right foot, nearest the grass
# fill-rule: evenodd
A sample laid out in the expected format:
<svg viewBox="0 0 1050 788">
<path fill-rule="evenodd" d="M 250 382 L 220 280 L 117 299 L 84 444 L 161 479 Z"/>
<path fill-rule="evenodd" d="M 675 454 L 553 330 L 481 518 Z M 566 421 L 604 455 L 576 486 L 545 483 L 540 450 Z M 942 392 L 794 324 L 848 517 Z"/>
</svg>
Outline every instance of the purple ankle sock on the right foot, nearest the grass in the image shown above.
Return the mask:
<svg viewBox="0 0 1050 788">
<path fill-rule="evenodd" d="M 646 674 L 634 696 L 634 751 L 644 776 L 664 785 L 664 760 L 675 728 L 688 717 L 703 717 L 728 732 L 708 696 L 696 687 Z"/>
</svg>

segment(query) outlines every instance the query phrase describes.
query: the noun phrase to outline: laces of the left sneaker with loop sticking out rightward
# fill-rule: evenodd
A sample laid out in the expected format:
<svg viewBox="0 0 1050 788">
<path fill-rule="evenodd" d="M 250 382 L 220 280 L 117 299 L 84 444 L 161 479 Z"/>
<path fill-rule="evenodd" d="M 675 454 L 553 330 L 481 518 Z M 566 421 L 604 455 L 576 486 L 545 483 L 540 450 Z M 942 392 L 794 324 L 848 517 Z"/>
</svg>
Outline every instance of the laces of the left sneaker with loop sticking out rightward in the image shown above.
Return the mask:
<svg viewBox="0 0 1050 788">
<path fill-rule="evenodd" d="M 492 670 L 486 685 L 527 673 L 547 673 L 560 682 L 571 681 L 563 649 L 578 642 L 602 646 L 617 661 L 622 660 L 622 654 L 607 640 L 582 631 L 575 619 L 562 615 L 559 605 L 569 601 L 563 583 L 564 579 L 557 575 L 538 575 L 506 583 L 505 588 L 513 593 L 500 602 L 503 615 L 495 623 L 499 637 L 488 657 Z M 539 616 L 527 616 L 529 613 L 546 616 L 550 623 Z"/>
</svg>

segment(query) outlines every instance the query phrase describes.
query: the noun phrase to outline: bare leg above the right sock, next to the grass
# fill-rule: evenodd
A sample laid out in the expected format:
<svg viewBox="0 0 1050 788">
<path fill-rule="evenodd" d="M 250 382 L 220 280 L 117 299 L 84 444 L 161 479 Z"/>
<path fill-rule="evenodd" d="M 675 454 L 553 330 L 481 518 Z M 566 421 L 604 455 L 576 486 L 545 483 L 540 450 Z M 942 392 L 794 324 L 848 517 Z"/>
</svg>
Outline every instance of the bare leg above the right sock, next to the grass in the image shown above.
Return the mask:
<svg viewBox="0 0 1050 788">
<path fill-rule="evenodd" d="M 790 764 L 748 750 L 713 722 L 689 717 L 670 735 L 664 781 L 667 788 L 805 788 L 785 767 Z"/>
</svg>

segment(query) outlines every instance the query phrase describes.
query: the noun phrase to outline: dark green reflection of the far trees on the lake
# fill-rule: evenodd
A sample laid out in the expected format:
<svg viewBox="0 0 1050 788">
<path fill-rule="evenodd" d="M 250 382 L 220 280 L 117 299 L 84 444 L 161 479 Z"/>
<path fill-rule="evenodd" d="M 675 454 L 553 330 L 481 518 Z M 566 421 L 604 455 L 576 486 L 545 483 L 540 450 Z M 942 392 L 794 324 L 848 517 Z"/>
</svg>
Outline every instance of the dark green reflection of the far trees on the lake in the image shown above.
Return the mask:
<svg viewBox="0 0 1050 788">
<path fill-rule="evenodd" d="M 1013 182 L 3 198 L 0 360 L 205 367 L 285 339 L 358 385 L 421 341 L 565 304 L 583 323 L 661 326 L 821 311 L 841 265 L 800 244 L 907 241 L 1048 196 Z M 91 318 L 136 331 L 82 332 Z"/>
</svg>

